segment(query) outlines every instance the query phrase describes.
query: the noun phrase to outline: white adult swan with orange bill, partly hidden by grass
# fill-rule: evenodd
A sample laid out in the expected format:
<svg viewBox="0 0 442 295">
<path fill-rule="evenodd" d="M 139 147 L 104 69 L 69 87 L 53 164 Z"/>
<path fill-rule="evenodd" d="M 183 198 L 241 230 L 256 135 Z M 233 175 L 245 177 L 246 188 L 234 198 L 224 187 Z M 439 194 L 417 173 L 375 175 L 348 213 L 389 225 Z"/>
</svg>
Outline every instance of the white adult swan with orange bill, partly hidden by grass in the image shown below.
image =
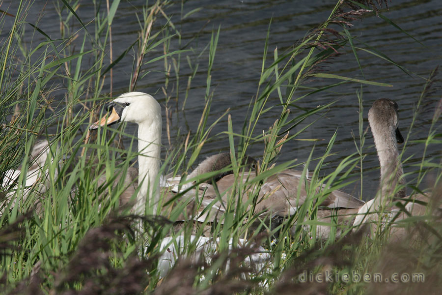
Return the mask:
<svg viewBox="0 0 442 295">
<path fill-rule="evenodd" d="M 161 148 L 161 107 L 159 103 L 149 94 L 142 92 L 128 92 L 120 95 L 114 99 L 107 106 L 109 116 L 105 116 L 100 121 L 94 123 L 89 129 L 96 129 L 99 126 L 111 125 L 120 121 L 135 122 L 138 124 L 138 179 L 142 181 L 140 189 L 138 191 L 136 200 L 136 212 L 142 214 L 145 211 L 146 199 L 149 198 L 153 212 L 156 213 L 156 207 L 160 202 L 160 188 L 159 188 L 159 171 L 160 171 L 160 148 Z M 215 160 L 214 160 L 215 159 Z M 198 166 L 200 169 L 196 169 L 198 173 L 203 173 L 203 168 L 210 168 L 212 165 L 217 165 L 217 158 L 209 158 L 206 162 Z M 212 164 L 211 164 L 212 163 Z M 218 165 L 226 165 L 225 161 L 221 161 Z M 213 167 L 212 167 L 213 168 Z M 221 167 L 222 168 L 222 167 Z M 191 206 L 192 207 L 192 206 Z M 219 239 L 211 239 L 208 237 L 196 237 L 191 236 L 191 241 L 195 242 L 197 253 L 207 253 L 215 251 L 217 249 L 217 243 Z M 165 273 L 175 263 L 175 256 L 171 256 L 170 253 L 179 253 L 183 249 L 182 242 L 183 236 L 166 237 L 162 243 L 161 248 L 163 255 L 160 257 L 160 273 Z M 243 240 L 244 242 L 244 240 Z M 175 247 L 177 244 L 177 248 Z M 229 246 L 231 246 L 231 241 Z M 166 251 L 167 250 L 167 251 Z M 258 248 L 258 252 L 264 255 L 264 258 L 268 257 L 265 254 L 265 250 L 262 247 Z M 263 255 L 258 255 L 259 259 Z M 257 258 L 250 256 L 250 260 L 256 262 Z"/>
</svg>

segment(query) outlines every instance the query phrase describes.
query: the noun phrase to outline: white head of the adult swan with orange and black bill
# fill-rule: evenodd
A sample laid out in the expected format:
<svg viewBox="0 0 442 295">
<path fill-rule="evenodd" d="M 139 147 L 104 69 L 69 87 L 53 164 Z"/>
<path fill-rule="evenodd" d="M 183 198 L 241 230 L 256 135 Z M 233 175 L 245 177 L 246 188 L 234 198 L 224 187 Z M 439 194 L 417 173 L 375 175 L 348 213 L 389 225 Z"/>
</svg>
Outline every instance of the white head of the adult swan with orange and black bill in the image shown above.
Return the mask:
<svg viewBox="0 0 442 295">
<path fill-rule="evenodd" d="M 120 121 L 148 125 L 161 122 L 160 104 L 152 95 L 143 92 L 121 94 L 106 106 L 106 111 L 106 116 L 93 123 L 89 130 Z"/>
</svg>

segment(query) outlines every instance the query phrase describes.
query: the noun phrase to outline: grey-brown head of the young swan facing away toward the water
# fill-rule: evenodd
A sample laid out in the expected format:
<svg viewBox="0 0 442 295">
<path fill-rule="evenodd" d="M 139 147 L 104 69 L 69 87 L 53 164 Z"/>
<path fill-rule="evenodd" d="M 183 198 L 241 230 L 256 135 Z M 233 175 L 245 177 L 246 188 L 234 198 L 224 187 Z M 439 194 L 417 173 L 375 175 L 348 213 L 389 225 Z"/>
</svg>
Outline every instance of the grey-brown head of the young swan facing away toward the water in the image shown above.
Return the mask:
<svg viewBox="0 0 442 295">
<path fill-rule="evenodd" d="M 397 143 L 402 144 L 404 138 L 399 131 L 398 105 L 388 98 L 381 98 L 373 103 L 368 111 L 368 122 L 373 134 L 385 134 L 388 138 L 396 138 Z"/>
</svg>

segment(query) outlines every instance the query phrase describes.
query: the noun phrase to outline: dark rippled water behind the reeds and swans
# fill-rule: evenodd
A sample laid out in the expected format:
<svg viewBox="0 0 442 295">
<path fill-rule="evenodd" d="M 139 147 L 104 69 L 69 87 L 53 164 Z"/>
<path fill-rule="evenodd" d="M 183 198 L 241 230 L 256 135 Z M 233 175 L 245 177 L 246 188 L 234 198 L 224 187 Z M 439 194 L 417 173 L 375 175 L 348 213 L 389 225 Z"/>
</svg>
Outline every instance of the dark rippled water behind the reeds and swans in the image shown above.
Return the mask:
<svg viewBox="0 0 442 295">
<path fill-rule="evenodd" d="M 78 14 L 83 19 L 83 23 L 88 23 L 93 19 L 93 6 L 88 1 L 83 1 Z M 87 2 L 87 4 L 86 4 Z M 187 1 L 183 6 L 183 13 L 202 7 L 202 9 L 185 20 L 181 21 L 181 2 L 177 1 L 174 5 L 167 7 L 165 13 L 171 17 L 171 21 L 182 32 L 181 45 L 191 41 L 187 49 L 192 49 L 183 55 L 180 68 L 180 88 L 177 105 L 175 97 L 169 101 L 169 106 L 173 112 L 172 142 L 174 136 L 179 131 L 181 134 L 187 134 L 188 130 L 196 130 L 198 121 L 204 106 L 204 93 L 206 86 L 208 51 L 206 50 L 199 58 L 198 55 L 207 45 L 213 30 L 221 26 L 220 39 L 216 58 L 212 69 L 212 88 L 214 98 L 211 108 L 209 123 L 213 122 L 227 108 L 230 108 L 230 114 L 233 119 L 235 131 L 240 132 L 245 116 L 247 114 L 249 101 L 256 95 L 258 81 L 260 77 L 263 49 L 265 37 L 269 27 L 270 19 L 270 43 L 269 43 L 269 62 L 273 59 L 273 51 L 277 47 L 278 52 L 290 48 L 301 39 L 309 29 L 321 24 L 326 20 L 334 6 L 334 1 L 260 1 L 260 0 L 235 0 L 235 1 Z M 36 20 L 38 15 L 42 15 L 39 22 L 39 28 L 44 30 L 51 38 L 59 38 L 59 28 L 57 24 L 58 17 L 55 13 L 54 4 L 49 1 L 42 11 L 46 1 L 37 0 L 30 12 L 28 21 Z M 113 56 L 119 56 L 130 44 L 137 38 L 139 29 L 136 14 L 141 17 L 141 10 L 144 1 L 121 1 L 119 9 L 115 15 L 112 26 L 113 37 Z M 15 3 L 11 3 L 11 11 Z M 41 12 L 42 11 L 42 12 Z M 103 10 L 104 12 L 105 10 Z M 430 72 L 441 62 L 441 37 L 442 37 L 442 2 L 440 0 L 393 0 L 389 2 L 389 11 L 385 9 L 382 13 L 400 28 L 406 30 L 410 35 L 416 38 L 422 44 L 413 40 L 407 34 L 399 29 L 389 25 L 386 21 L 377 17 L 375 14 L 367 14 L 362 21 L 353 22 L 354 27 L 350 32 L 358 36 L 360 40 L 367 43 L 386 54 L 394 62 L 407 68 L 412 74 L 407 75 L 401 69 L 390 62 L 374 57 L 373 55 L 358 52 L 359 60 L 362 66 L 362 72 L 359 65 L 349 48 L 344 48 L 346 52 L 342 56 L 331 59 L 324 64 L 326 72 L 336 75 L 347 76 L 357 79 L 382 82 L 393 85 L 393 87 L 363 86 L 363 106 L 364 106 L 364 128 L 368 126 L 367 113 L 374 100 L 382 97 L 396 100 L 400 108 L 400 127 L 402 133 L 408 133 L 412 122 L 413 114 L 416 111 L 415 105 L 426 83 L 426 78 Z M 54 21 L 56 20 L 56 21 Z M 158 24 L 165 23 L 164 19 L 159 20 Z M 74 27 L 80 29 L 78 23 L 73 21 Z M 93 24 L 88 25 L 93 29 Z M 155 27 L 159 29 L 159 27 Z M 154 31 L 155 31 L 154 29 Z M 30 29 L 29 29 L 30 31 Z M 192 38 L 198 34 L 196 39 Z M 2 35 L 4 35 L 5 30 Z M 30 32 L 29 32 L 30 33 Z M 81 38 L 80 38 L 81 39 Z M 34 44 L 38 44 L 44 38 L 38 34 L 34 36 Z M 175 39 L 176 40 L 176 39 Z M 365 45 L 356 42 L 356 46 Z M 171 44 L 172 50 L 179 49 L 176 41 Z M 159 47 L 161 50 L 162 48 Z M 152 52 L 146 57 L 146 60 L 161 55 L 161 51 Z M 176 112 L 180 109 L 187 84 L 187 77 L 191 70 L 187 65 L 185 55 L 189 55 L 193 63 L 199 63 L 198 71 L 192 81 L 189 98 L 185 105 L 184 112 Z M 125 57 L 117 66 L 114 67 L 114 94 L 126 92 L 129 89 L 131 76 L 131 66 L 133 59 L 130 56 Z M 170 62 L 170 59 L 169 59 Z M 161 87 L 165 84 L 164 60 L 149 64 L 144 67 L 144 71 L 152 71 L 143 77 L 137 86 L 138 91 L 144 91 L 153 94 L 162 104 L 165 103 L 165 95 Z M 173 66 L 172 66 L 173 71 Z M 363 73 L 363 74 L 362 74 Z M 171 93 L 174 74 L 171 74 L 168 91 Z M 415 126 L 410 134 L 410 140 L 417 141 L 425 139 L 434 114 L 434 108 L 441 99 L 441 80 L 436 76 L 433 84 L 433 92 L 429 93 L 423 100 L 423 105 L 419 110 L 419 115 Z M 338 82 L 333 81 L 333 82 Z M 318 87 L 331 81 L 316 80 L 306 86 Z M 109 91 L 109 80 L 105 82 L 104 91 Z M 298 102 L 300 107 L 310 109 L 318 105 L 323 105 L 331 101 L 336 101 L 328 110 L 323 118 L 313 116 L 297 128 L 303 128 L 312 120 L 318 119 L 313 126 L 304 131 L 299 138 L 320 139 L 315 144 L 315 156 L 324 153 L 327 144 L 335 131 L 337 139 L 332 148 L 332 152 L 337 153 L 331 157 L 330 164 L 324 170 L 324 174 L 334 170 L 345 156 L 356 152 L 352 132 L 358 136 L 358 98 L 356 90 L 360 86 L 356 83 L 347 83 L 339 87 L 323 91 L 308 96 Z M 283 90 L 283 93 L 285 90 Z M 295 97 L 302 95 L 300 91 Z M 103 93 L 106 94 L 106 93 Z M 62 95 L 62 94 L 60 94 Z M 268 106 L 276 105 L 270 112 L 266 113 L 260 119 L 257 126 L 257 132 L 267 130 L 273 124 L 282 107 L 277 106 L 279 99 L 276 92 L 272 94 Z M 292 109 L 292 118 L 299 115 L 299 111 Z M 164 124 L 166 125 L 166 124 Z M 438 127 L 438 126 L 437 126 Z M 130 127 L 135 128 L 135 127 Z M 211 135 L 217 135 L 227 130 L 227 118 L 214 128 Z M 294 130 L 296 132 L 296 128 Z M 293 132 L 293 133 L 294 133 Z M 166 132 L 163 135 L 163 143 L 166 145 Z M 181 139 L 178 139 L 181 140 Z M 208 142 L 201 154 L 201 158 L 219 152 L 223 147 L 227 148 L 228 143 L 224 141 L 225 136 L 217 137 L 217 140 Z M 258 143 L 251 147 L 248 153 L 259 158 L 262 155 L 263 144 Z M 278 161 L 286 161 L 297 158 L 299 162 L 304 161 L 313 148 L 311 142 L 292 140 L 286 143 L 282 149 Z M 364 159 L 364 180 L 363 191 L 364 199 L 371 199 L 378 184 L 379 170 L 375 169 L 379 164 L 373 147 L 373 139 L 368 133 L 364 152 L 368 153 Z M 411 157 L 408 165 L 405 166 L 406 172 L 413 172 L 416 168 L 411 166 L 419 162 L 423 152 L 422 143 L 410 143 L 405 152 L 406 157 Z M 427 150 L 427 156 L 434 157 L 434 162 L 440 162 L 440 146 L 430 146 Z M 314 166 L 309 167 L 313 169 Z M 357 172 L 357 171 L 355 171 Z M 411 180 L 413 175 L 408 177 Z M 346 187 L 349 193 L 359 194 L 359 182 Z"/>
</svg>

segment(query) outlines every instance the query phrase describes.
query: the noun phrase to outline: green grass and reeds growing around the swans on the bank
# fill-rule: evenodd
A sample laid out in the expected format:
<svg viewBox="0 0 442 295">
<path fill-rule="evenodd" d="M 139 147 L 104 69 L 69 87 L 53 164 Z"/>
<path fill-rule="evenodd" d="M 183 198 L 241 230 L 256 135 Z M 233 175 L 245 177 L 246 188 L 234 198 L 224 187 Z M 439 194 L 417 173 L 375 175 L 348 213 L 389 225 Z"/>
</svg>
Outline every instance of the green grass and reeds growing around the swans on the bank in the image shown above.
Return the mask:
<svg viewBox="0 0 442 295">
<path fill-rule="evenodd" d="M 222 224 L 209 224 L 212 235 L 219 237 L 219 251 L 212 258 L 213 262 L 205 265 L 204 261 L 194 263 L 182 259 L 165 278 L 160 278 L 157 270 L 158 255 L 161 254 L 161 240 L 171 234 L 172 224 L 166 218 L 134 216 L 129 208 L 120 208 L 119 196 L 125 189 L 124 177 L 121 177 L 118 185 L 112 185 L 115 179 L 126 175 L 127 169 L 134 165 L 138 152 L 134 152 L 132 146 L 137 145 L 137 138 L 124 132 L 125 124 L 116 130 L 102 128 L 94 133 L 87 131 L 87 127 L 100 116 L 102 104 L 109 101 L 104 97 L 120 94 L 112 92 L 112 88 L 104 88 L 105 81 L 112 85 L 112 80 L 115 80 L 113 67 L 119 61 L 133 59 L 131 76 L 120 77 L 127 83 L 128 91 L 142 91 L 137 88 L 138 82 L 152 74 L 147 70 L 147 65 L 164 62 L 166 116 L 163 122 L 168 142 L 167 145 L 163 143 L 166 152 L 163 154 L 161 171 L 172 176 L 191 171 L 197 164 L 195 161 L 204 149 L 204 144 L 213 140 L 210 131 L 219 123 L 219 120 L 210 123 L 208 118 L 216 93 L 211 85 L 211 72 L 220 30 L 213 32 L 203 52 L 196 53 L 200 59 L 191 59 L 191 49 L 181 46 L 182 32 L 167 16 L 167 7 L 171 3 L 168 0 L 150 1 L 144 6 L 143 13 L 138 15 L 138 39 L 128 44 L 127 50 L 120 56 L 115 56 L 112 53 L 111 27 L 118 0 L 108 3 L 107 7 L 100 1 L 93 1 L 96 11 L 93 25 L 86 24 L 77 14 L 82 1 L 55 1 L 59 18 L 56 25 L 60 27 L 61 34 L 61 39 L 56 40 L 39 29 L 38 22 L 31 24 L 26 20 L 29 9 L 35 5 L 32 1 L 28 3 L 21 0 L 15 14 L 3 11 L 0 24 L 7 37 L 0 43 L 0 178 L 4 183 L 0 187 L 0 196 L 4 198 L 0 202 L 2 293 L 366 294 L 380 293 L 376 291 L 379 289 L 395 293 L 439 292 L 439 282 L 442 281 L 442 227 L 428 216 L 411 217 L 404 221 L 404 226 L 416 227 L 418 233 L 414 233 L 414 236 L 422 237 L 407 242 L 388 242 L 387 230 L 368 237 L 363 232 L 352 234 L 350 226 L 343 229 L 348 233 L 346 236 L 335 238 L 332 235 L 328 240 L 315 238 L 314 225 L 320 224 L 315 218 L 320 203 L 317 200 L 334 189 L 349 185 L 355 175 L 362 177 L 365 157 L 363 148 L 367 133 L 362 127 L 362 87 L 367 84 L 389 86 L 381 82 L 343 77 L 333 74 L 332 70 L 320 72 L 319 66 L 343 48 L 350 48 L 358 63 L 358 52 L 363 50 L 408 73 L 407 69 L 378 50 L 368 47 L 361 49 L 356 45 L 347 24 L 368 13 L 366 9 L 369 7 L 364 5 L 377 10 L 375 4 L 371 1 L 368 4 L 350 0 L 336 2 L 329 18 L 321 26 L 311 30 L 304 39 L 294 42 L 290 49 L 284 52 L 275 50 L 272 57 L 268 54 L 269 27 L 263 44 L 262 68 L 256 95 L 249 102 L 249 119 L 242 126 L 241 133 L 235 133 L 232 120 L 228 118 L 228 126 L 223 133 L 228 138 L 232 169 L 237 177 L 241 177 L 243 171 L 238 163 L 241 163 L 250 145 L 265 145 L 259 176 L 234 188 L 233 198 L 227 204 L 229 209 L 221 217 Z M 351 7 L 346 4 L 351 4 Z M 198 10 L 182 13 L 182 18 Z M 389 22 L 385 16 L 383 18 Z M 159 22 L 163 25 L 160 26 Z M 6 23 L 12 25 L 6 26 Z M 24 31 L 29 29 L 34 36 L 44 36 L 45 41 L 35 44 L 32 40 L 24 40 Z M 178 44 L 179 49 L 173 44 Z M 201 60 L 203 53 L 208 53 L 209 60 Z M 193 69 L 193 75 L 182 77 L 180 64 L 186 62 Z M 179 99 L 184 109 L 193 79 L 197 77 L 199 62 L 208 63 L 204 111 L 197 130 L 192 134 L 178 133 L 175 140 L 170 137 L 169 101 Z M 434 72 L 429 74 L 416 110 L 419 110 L 429 92 L 434 75 Z M 312 78 L 321 78 L 328 84 L 315 88 L 314 83 L 310 83 L 307 88 L 304 81 Z M 185 91 L 181 91 L 180 83 L 187 85 Z M 283 144 L 297 139 L 311 124 L 298 129 L 295 127 L 301 126 L 312 115 L 324 115 L 333 104 L 328 102 L 313 109 L 304 109 L 298 107 L 297 103 L 309 95 L 343 83 L 361 85 L 361 90 L 355 94 L 355 97 L 359 97 L 360 114 L 359 134 L 355 135 L 358 152 L 345 157 L 334 172 L 323 177 L 321 171 L 334 152 L 335 133 L 331 134 L 330 142 L 321 157 L 314 159 L 312 149 L 310 157 L 305 161 L 293 160 L 274 165 Z M 299 96 L 299 89 L 310 91 Z M 55 100 L 55 97 L 61 96 L 63 100 Z M 276 108 L 269 103 L 269 98 L 276 96 L 280 103 L 277 107 L 282 107 L 280 116 L 272 126 L 262 126 L 260 119 L 263 114 Z M 290 114 L 293 110 L 296 110 L 295 114 Z M 413 175 L 417 175 L 417 178 L 408 179 L 412 177 L 406 175 L 409 194 L 412 191 L 413 194 L 419 192 L 418 187 L 424 177 L 432 174 L 434 195 L 440 195 L 441 188 L 437 186 L 442 176 L 440 163 L 426 156 L 428 146 L 441 143 L 440 113 L 439 108 L 431 122 L 427 139 L 420 143 L 424 150 L 422 158 L 418 164 L 413 164 L 417 170 Z M 416 111 L 409 134 L 417 114 Z M 228 110 L 219 119 L 224 116 L 228 116 Z M 321 119 L 321 116 L 316 116 L 316 120 Z M 257 131 L 261 129 L 268 131 L 259 134 Z M 42 168 L 42 171 L 48 173 L 40 175 L 27 193 L 28 155 L 37 137 L 47 138 L 51 142 L 48 160 Z M 131 138 L 131 145 L 123 147 L 121 137 Z M 410 140 L 406 136 L 402 155 Z M 403 163 L 410 161 L 405 157 L 401 160 Z M 315 163 L 315 166 L 309 171 L 313 173 L 307 188 L 309 201 L 295 215 L 287 217 L 276 227 L 261 222 L 259 230 L 252 231 L 252 224 L 260 222 L 259 212 L 250 210 L 249 205 L 256 201 L 262 181 L 287 168 L 303 170 L 305 179 L 307 167 L 313 166 L 311 163 Z M 21 173 L 6 181 L 7 171 L 19 166 L 23 167 Z M 106 177 L 106 181 L 98 181 L 100 177 Z M 203 175 L 197 182 L 210 177 Z M 322 188 L 323 184 L 329 188 L 316 193 L 316 189 Z M 250 185 L 255 188 L 251 195 L 246 192 Z M 44 191 L 42 187 L 45 187 Z M 362 195 L 363 188 L 360 193 Z M 247 201 L 238 202 L 240 206 L 233 206 L 236 204 L 235 198 L 247 198 Z M 168 219 L 176 218 L 181 209 L 173 208 Z M 134 225 L 139 221 L 142 221 L 144 228 L 141 232 L 134 231 Z M 310 225 L 310 228 L 305 225 Z M 183 252 L 187 254 L 195 249 L 195 241 L 190 239 L 192 227 L 193 223 L 189 222 L 181 232 L 173 234 L 184 235 L 187 242 Z M 333 224 L 332 232 L 336 232 L 337 227 L 340 225 Z M 202 228 L 204 226 L 200 233 Z M 232 239 L 235 244 L 240 238 L 250 242 L 243 249 L 227 251 L 229 240 Z M 244 263 L 256 250 L 252 242 L 261 243 L 271 256 L 260 271 L 250 271 Z M 230 266 L 226 267 L 227 264 Z M 326 272 L 333 274 L 332 282 L 309 280 L 310 274 L 316 277 Z M 351 275 L 354 273 L 382 273 L 384 278 L 398 273 L 399 280 L 403 273 L 410 276 L 412 273 L 423 273 L 425 283 L 370 284 L 352 280 Z M 349 282 L 345 281 L 346 274 L 350 274 Z M 303 278 L 306 282 L 303 282 Z"/>
</svg>

